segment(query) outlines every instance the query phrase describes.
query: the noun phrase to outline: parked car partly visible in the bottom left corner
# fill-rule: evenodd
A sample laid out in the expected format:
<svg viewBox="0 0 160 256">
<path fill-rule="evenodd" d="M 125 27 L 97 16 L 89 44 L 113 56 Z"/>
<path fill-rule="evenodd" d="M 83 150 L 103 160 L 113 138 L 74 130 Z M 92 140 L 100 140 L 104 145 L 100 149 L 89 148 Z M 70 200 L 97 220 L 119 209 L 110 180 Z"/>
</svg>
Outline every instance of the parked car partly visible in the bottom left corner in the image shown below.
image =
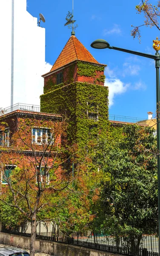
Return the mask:
<svg viewBox="0 0 160 256">
<path fill-rule="evenodd" d="M 29 256 L 26 250 L 16 247 L 0 247 L 0 256 Z"/>
</svg>

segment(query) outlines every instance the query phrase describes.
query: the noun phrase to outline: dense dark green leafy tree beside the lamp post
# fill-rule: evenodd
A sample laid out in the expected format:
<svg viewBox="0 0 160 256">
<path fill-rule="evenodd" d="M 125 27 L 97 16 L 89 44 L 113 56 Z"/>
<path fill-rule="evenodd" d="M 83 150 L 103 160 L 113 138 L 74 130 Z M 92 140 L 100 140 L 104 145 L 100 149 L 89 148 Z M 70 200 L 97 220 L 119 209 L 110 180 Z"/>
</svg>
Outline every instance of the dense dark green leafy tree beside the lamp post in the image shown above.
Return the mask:
<svg viewBox="0 0 160 256">
<path fill-rule="evenodd" d="M 108 179 L 103 183 L 103 225 L 123 235 L 131 252 L 138 250 L 143 232 L 157 228 L 156 140 L 150 127 L 125 125 L 123 137 L 99 141 L 95 155 Z M 123 240 L 125 241 L 125 239 Z"/>
</svg>

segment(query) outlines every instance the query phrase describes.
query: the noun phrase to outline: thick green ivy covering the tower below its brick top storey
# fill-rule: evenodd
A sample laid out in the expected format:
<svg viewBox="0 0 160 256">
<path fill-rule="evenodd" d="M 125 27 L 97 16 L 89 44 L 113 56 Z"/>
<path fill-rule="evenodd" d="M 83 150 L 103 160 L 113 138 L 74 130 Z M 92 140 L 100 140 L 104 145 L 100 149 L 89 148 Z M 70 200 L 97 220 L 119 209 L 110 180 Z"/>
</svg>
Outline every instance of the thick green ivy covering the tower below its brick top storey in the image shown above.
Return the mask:
<svg viewBox="0 0 160 256">
<path fill-rule="evenodd" d="M 81 148 L 97 136 L 106 136 L 108 120 L 108 87 L 83 82 L 61 84 L 49 93 L 40 96 L 41 111 L 60 113 L 69 118 L 68 140 L 77 142 Z M 92 102 L 98 108 L 98 121 L 88 118 L 89 111 L 94 113 Z"/>
</svg>

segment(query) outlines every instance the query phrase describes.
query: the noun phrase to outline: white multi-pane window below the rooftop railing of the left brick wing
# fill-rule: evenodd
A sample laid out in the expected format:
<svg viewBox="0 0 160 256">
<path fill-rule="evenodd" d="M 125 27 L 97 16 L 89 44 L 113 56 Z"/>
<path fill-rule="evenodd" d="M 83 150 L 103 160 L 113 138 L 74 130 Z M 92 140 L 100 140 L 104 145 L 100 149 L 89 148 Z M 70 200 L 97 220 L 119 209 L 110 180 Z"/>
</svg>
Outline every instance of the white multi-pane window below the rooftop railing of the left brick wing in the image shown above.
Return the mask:
<svg viewBox="0 0 160 256">
<path fill-rule="evenodd" d="M 47 128 L 32 129 L 32 143 L 44 144 L 51 141 L 51 131 Z"/>
</svg>

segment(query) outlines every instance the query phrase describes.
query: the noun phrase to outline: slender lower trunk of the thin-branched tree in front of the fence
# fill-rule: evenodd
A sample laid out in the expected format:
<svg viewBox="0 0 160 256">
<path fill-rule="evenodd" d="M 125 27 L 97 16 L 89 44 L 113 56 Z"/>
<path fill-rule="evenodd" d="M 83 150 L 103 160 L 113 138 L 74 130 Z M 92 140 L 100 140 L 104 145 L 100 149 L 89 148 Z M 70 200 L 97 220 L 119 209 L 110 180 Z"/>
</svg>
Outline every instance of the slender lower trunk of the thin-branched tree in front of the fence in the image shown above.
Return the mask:
<svg viewBox="0 0 160 256">
<path fill-rule="evenodd" d="M 36 241 L 36 212 L 34 212 L 31 219 L 31 241 L 30 241 L 30 256 L 35 254 L 35 241 Z"/>
</svg>

